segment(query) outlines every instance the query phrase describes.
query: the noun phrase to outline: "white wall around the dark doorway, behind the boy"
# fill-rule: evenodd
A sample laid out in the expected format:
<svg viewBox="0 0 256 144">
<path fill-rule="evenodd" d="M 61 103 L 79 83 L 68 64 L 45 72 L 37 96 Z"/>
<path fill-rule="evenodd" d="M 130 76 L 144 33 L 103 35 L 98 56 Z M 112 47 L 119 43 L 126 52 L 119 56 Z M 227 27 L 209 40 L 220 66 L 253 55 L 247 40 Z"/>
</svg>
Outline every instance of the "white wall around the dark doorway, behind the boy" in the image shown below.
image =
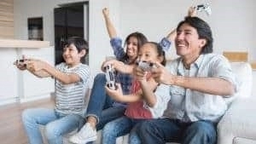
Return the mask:
<svg viewBox="0 0 256 144">
<path fill-rule="evenodd" d="M 100 72 L 102 60 L 113 55 L 109 45 L 108 33 L 102 17 L 102 8 L 109 7 L 115 12 L 115 22 L 119 23 L 119 0 L 14 0 L 15 38 L 27 39 L 27 18 L 43 17 L 44 40 L 54 45 L 54 8 L 58 4 L 89 2 L 89 65 L 92 72 Z M 102 51 L 103 50 L 103 51 Z M 99 55 L 101 54 L 101 55 Z"/>
</svg>

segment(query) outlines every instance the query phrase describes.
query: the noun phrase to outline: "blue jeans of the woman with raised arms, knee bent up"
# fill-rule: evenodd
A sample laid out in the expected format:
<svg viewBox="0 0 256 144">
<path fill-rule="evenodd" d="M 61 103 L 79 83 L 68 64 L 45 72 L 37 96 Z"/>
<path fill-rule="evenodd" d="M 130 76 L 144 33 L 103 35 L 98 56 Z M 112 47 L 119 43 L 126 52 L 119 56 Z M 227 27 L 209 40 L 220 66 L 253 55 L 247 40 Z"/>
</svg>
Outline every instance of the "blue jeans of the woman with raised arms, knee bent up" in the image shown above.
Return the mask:
<svg viewBox="0 0 256 144">
<path fill-rule="evenodd" d="M 102 130 L 105 124 L 113 119 L 122 117 L 125 112 L 124 106 L 113 106 L 115 101 L 113 101 L 113 99 L 111 99 L 111 97 L 109 97 L 106 93 L 106 81 L 107 80 L 104 73 L 99 73 L 96 75 L 86 112 L 86 118 L 93 116 L 97 119 L 97 130 Z"/>
</svg>

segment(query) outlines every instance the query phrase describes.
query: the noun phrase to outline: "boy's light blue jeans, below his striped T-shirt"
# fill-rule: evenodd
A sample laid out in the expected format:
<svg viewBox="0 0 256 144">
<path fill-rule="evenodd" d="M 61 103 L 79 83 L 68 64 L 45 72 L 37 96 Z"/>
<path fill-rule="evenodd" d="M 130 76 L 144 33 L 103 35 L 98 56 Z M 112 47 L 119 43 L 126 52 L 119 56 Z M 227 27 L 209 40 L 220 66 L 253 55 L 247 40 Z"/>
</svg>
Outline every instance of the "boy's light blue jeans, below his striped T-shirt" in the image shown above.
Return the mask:
<svg viewBox="0 0 256 144">
<path fill-rule="evenodd" d="M 45 125 L 45 136 L 49 144 L 61 144 L 62 136 L 83 126 L 84 118 L 76 114 L 63 115 L 53 109 L 34 108 L 22 112 L 22 122 L 29 143 L 43 144 L 39 126 Z"/>
</svg>

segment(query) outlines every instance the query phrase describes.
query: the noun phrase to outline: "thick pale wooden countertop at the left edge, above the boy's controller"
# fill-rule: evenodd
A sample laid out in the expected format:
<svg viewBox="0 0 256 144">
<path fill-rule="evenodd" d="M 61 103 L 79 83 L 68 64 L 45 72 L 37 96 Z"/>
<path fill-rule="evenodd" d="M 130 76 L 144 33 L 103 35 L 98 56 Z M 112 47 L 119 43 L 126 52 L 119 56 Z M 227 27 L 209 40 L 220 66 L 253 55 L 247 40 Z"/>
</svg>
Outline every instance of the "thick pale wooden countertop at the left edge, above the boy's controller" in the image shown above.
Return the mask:
<svg viewBox="0 0 256 144">
<path fill-rule="evenodd" d="M 49 41 L 0 39 L 0 48 L 49 48 Z"/>
</svg>

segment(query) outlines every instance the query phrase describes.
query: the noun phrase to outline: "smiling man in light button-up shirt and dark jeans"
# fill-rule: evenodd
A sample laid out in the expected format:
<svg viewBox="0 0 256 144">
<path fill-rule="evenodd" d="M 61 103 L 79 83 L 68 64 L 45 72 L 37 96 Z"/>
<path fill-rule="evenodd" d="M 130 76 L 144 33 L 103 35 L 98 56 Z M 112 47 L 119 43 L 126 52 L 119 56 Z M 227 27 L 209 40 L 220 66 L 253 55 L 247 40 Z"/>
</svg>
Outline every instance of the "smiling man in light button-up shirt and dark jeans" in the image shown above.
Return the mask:
<svg viewBox="0 0 256 144">
<path fill-rule="evenodd" d="M 236 92 L 230 63 L 212 54 L 212 31 L 198 17 L 186 17 L 177 26 L 175 38 L 180 57 L 156 64 L 155 80 L 170 85 L 171 100 L 162 118 L 148 120 L 138 128 L 144 144 L 214 144 L 216 125 Z M 137 73 L 137 75 L 139 75 Z"/>
</svg>

